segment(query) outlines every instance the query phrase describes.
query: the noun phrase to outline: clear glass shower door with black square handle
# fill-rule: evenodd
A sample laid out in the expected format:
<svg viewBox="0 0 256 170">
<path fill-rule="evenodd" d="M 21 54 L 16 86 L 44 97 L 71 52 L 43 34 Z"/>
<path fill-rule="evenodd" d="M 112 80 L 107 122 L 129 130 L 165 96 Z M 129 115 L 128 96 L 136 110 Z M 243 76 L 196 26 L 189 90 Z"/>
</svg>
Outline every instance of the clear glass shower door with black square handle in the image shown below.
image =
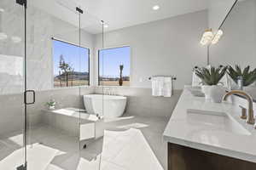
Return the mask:
<svg viewBox="0 0 256 170">
<path fill-rule="evenodd" d="M 35 103 L 26 105 L 27 170 L 78 167 L 78 23 L 70 1 L 28 2 L 26 80 Z"/>
</svg>

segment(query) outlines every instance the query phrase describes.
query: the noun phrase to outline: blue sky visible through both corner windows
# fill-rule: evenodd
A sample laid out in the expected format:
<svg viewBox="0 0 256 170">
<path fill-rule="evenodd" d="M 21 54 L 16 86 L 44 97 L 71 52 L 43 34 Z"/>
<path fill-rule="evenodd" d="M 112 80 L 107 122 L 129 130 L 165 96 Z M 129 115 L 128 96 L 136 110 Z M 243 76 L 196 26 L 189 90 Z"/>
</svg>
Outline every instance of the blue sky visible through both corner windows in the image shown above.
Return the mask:
<svg viewBox="0 0 256 170">
<path fill-rule="evenodd" d="M 59 74 L 60 56 L 70 64 L 74 71 L 88 71 L 89 49 L 53 40 L 54 74 Z M 119 65 L 124 65 L 123 76 L 130 76 L 131 48 L 108 48 L 100 50 L 100 75 L 105 77 L 119 77 Z"/>
</svg>

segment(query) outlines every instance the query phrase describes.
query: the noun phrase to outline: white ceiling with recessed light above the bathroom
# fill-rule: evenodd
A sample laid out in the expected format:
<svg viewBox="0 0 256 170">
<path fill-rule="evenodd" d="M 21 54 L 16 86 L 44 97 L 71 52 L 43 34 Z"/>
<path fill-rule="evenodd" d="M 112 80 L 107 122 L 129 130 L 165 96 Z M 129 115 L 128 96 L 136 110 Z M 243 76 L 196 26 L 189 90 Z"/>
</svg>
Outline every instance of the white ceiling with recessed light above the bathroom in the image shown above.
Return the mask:
<svg viewBox="0 0 256 170">
<path fill-rule="evenodd" d="M 91 33 L 101 32 L 101 20 L 108 24 L 105 31 L 162 20 L 179 14 L 188 14 L 207 8 L 207 0 L 32 0 L 33 5 L 44 9 L 74 26 L 78 14 L 74 8 L 84 9 L 81 27 Z M 153 10 L 159 5 L 159 10 Z"/>
</svg>

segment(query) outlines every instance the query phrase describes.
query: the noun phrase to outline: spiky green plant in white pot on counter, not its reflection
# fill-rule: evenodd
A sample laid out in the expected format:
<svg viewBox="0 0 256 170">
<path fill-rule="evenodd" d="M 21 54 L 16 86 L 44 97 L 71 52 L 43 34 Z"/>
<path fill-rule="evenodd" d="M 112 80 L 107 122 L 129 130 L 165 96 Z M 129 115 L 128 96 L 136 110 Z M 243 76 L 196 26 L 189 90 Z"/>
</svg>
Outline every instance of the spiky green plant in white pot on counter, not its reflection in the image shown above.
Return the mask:
<svg viewBox="0 0 256 170">
<path fill-rule="evenodd" d="M 221 102 L 225 89 L 219 85 L 222 83 L 220 80 L 224 77 L 226 70 L 226 66 L 202 67 L 195 70 L 196 76 L 201 79 L 201 88 L 206 99 L 212 99 L 213 102 Z"/>
</svg>

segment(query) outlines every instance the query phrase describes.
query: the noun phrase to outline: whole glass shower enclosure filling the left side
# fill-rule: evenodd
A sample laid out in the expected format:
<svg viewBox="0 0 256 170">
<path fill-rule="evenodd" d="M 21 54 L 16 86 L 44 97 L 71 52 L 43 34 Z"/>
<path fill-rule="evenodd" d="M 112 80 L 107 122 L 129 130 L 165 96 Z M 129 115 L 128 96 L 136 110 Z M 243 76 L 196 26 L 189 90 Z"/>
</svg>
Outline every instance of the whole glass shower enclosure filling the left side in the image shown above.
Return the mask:
<svg viewBox="0 0 256 170">
<path fill-rule="evenodd" d="M 100 147 L 85 150 L 102 139 L 83 95 L 94 93 L 104 22 L 84 9 L 0 1 L 0 169 L 100 169 Z"/>
</svg>

